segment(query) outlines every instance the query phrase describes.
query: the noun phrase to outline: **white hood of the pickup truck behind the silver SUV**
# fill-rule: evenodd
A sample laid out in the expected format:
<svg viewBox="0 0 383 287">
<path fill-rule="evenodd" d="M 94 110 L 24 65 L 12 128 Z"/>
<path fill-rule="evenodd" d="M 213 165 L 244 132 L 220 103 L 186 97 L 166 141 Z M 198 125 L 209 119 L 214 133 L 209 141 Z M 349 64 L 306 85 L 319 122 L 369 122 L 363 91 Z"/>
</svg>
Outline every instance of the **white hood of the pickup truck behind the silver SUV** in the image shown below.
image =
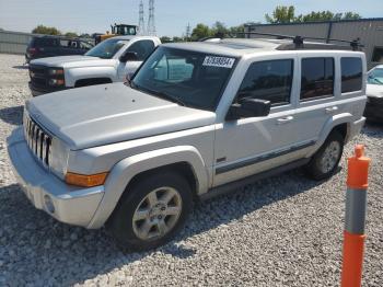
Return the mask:
<svg viewBox="0 0 383 287">
<path fill-rule="evenodd" d="M 58 67 L 58 68 L 78 68 L 78 67 L 104 67 L 114 66 L 115 59 L 102 59 L 90 56 L 61 56 L 61 57 L 49 57 L 40 58 L 31 61 L 32 65 L 42 65 L 46 67 Z"/>
</svg>

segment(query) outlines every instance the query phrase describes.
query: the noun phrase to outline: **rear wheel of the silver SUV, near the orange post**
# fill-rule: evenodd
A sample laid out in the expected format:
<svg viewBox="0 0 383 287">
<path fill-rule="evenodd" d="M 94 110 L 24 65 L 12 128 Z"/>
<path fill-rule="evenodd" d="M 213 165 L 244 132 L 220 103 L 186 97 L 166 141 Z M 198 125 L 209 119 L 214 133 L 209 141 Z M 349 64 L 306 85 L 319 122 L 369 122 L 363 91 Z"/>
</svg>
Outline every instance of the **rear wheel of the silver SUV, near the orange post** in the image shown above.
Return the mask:
<svg viewBox="0 0 383 287">
<path fill-rule="evenodd" d="M 329 179 L 339 165 L 344 145 L 343 136 L 338 131 L 332 131 L 306 165 L 309 177 L 316 181 Z"/>
</svg>

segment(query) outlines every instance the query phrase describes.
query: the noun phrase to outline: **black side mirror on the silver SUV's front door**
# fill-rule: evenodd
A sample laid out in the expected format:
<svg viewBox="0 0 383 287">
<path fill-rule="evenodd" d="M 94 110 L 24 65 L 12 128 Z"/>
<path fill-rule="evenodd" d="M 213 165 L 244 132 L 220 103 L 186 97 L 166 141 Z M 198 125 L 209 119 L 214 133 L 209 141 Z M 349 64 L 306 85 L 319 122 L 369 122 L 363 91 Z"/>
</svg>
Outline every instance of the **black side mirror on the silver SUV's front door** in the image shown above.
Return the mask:
<svg viewBox="0 0 383 287">
<path fill-rule="evenodd" d="M 270 114 L 271 102 L 259 99 L 245 97 L 232 104 L 227 119 L 233 120 L 243 117 L 262 117 Z"/>
</svg>

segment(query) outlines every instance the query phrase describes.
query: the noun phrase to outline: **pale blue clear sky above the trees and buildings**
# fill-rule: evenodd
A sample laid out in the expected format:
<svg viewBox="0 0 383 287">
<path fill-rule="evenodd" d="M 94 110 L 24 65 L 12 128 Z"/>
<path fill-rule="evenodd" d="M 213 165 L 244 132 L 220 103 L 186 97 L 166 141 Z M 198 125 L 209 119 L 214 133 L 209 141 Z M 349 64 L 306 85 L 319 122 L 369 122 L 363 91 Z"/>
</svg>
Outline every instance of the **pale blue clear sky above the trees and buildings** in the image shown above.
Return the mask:
<svg viewBox="0 0 383 287">
<path fill-rule="evenodd" d="M 144 16 L 148 22 L 148 2 Z M 363 18 L 383 18 L 383 0 L 155 0 L 159 36 L 182 36 L 189 23 L 227 26 L 265 22 L 277 5 L 294 5 L 295 14 L 311 11 L 352 11 Z M 112 23 L 138 24 L 139 0 L 0 0 L 0 27 L 31 32 L 38 24 L 61 32 L 105 33 Z"/>
</svg>

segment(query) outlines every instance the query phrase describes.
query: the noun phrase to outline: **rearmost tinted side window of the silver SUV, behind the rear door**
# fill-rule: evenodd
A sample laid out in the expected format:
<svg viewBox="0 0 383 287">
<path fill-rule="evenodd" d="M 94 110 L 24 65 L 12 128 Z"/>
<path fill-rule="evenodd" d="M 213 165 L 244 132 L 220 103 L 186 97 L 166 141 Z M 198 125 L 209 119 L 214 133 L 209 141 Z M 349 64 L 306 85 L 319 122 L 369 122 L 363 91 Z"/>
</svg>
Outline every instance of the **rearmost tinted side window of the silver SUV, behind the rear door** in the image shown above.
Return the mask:
<svg viewBox="0 0 383 287">
<path fill-rule="evenodd" d="M 361 58 L 341 58 L 341 92 L 348 93 L 362 89 L 363 72 Z"/>
</svg>

